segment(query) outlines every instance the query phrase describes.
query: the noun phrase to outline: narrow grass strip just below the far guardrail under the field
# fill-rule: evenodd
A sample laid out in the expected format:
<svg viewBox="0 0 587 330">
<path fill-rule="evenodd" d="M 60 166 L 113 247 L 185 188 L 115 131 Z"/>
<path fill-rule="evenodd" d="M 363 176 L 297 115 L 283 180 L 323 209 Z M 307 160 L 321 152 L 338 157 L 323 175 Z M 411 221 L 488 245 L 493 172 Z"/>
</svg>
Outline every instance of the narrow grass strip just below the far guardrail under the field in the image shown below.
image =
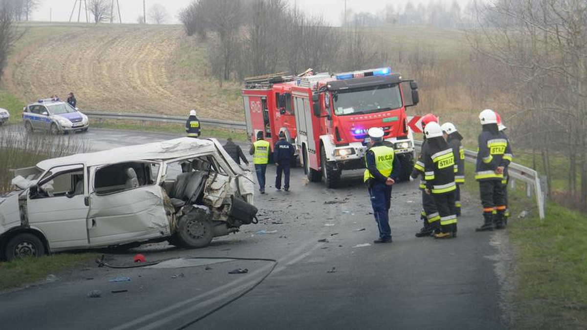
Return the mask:
<svg viewBox="0 0 587 330">
<path fill-rule="evenodd" d="M 113 130 L 129 130 L 129 131 L 148 131 L 148 132 L 166 132 L 177 135 L 184 135 L 184 128 L 178 124 L 159 124 L 149 123 L 143 124 L 140 122 L 125 121 L 125 123 L 115 123 L 110 120 L 93 121 L 90 124 L 90 129 L 95 128 L 109 128 Z M 202 130 L 202 138 L 217 138 L 227 139 L 232 138 L 234 141 L 247 142 L 247 132 L 241 130 L 228 130 L 224 128 L 208 128 L 204 127 Z"/>
</svg>

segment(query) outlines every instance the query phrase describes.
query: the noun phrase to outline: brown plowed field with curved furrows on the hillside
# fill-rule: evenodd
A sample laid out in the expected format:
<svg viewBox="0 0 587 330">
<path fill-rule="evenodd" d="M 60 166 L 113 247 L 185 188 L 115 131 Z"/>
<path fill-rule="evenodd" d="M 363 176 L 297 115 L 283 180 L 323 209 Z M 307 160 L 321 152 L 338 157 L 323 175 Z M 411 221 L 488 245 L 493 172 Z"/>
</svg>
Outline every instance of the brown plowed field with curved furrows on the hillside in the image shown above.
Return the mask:
<svg viewBox="0 0 587 330">
<path fill-rule="evenodd" d="M 181 26 L 46 28 L 28 29 L 6 69 L 4 88 L 22 100 L 73 91 L 85 110 L 244 117 L 238 85 L 205 76 L 204 49 Z"/>
</svg>

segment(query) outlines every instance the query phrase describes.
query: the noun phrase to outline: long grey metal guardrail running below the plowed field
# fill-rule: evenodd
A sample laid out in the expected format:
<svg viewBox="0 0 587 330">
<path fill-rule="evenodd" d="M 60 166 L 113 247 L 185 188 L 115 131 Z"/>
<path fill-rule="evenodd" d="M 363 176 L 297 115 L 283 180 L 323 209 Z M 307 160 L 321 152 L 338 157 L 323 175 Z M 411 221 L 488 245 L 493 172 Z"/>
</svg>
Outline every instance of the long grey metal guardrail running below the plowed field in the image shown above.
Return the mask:
<svg viewBox="0 0 587 330">
<path fill-rule="evenodd" d="M 95 119 L 116 119 L 116 120 L 135 120 L 135 121 L 154 121 L 156 123 L 173 123 L 185 124 L 187 117 L 175 115 L 160 114 L 133 114 L 133 113 L 107 113 L 100 111 L 83 111 L 90 118 Z M 212 127 L 231 128 L 232 130 L 246 130 L 247 124 L 241 121 L 204 119 L 200 118 L 200 123 Z"/>
</svg>

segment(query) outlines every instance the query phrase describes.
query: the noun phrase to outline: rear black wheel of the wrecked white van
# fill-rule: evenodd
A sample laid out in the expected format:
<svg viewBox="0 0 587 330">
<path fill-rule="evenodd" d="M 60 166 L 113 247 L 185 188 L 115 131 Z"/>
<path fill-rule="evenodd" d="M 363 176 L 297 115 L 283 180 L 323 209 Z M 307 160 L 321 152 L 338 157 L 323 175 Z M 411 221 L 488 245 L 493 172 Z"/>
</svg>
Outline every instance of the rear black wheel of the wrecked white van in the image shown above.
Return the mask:
<svg viewBox="0 0 587 330">
<path fill-rule="evenodd" d="M 177 224 L 177 243 L 186 249 L 205 247 L 214 238 L 210 215 L 205 210 L 194 208 L 180 217 Z"/>
</svg>

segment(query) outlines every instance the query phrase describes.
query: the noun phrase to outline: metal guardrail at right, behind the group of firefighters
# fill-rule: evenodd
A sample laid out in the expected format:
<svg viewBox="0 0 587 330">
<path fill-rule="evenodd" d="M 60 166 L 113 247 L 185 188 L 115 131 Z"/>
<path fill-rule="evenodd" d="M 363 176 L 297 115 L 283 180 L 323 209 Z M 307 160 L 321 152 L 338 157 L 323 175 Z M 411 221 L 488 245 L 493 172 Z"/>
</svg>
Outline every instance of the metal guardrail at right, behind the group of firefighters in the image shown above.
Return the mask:
<svg viewBox="0 0 587 330">
<path fill-rule="evenodd" d="M 416 148 L 420 149 L 422 147 L 422 141 L 414 141 L 414 145 Z M 477 152 L 465 149 L 465 161 L 475 164 L 477 162 Z M 508 166 L 508 174 L 511 178 L 526 183 L 526 191 L 528 193 L 528 196 L 530 195 L 529 192 L 534 190 L 534 193 L 536 195 L 536 203 L 538 206 L 538 216 L 540 217 L 540 219 L 544 219 L 545 196 L 544 191 L 542 190 L 542 185 L 540 182 L 538 172 L 536 172 L 534 169 L 512 162 L 510 163 L 510 166 Z"/>
</svg>

